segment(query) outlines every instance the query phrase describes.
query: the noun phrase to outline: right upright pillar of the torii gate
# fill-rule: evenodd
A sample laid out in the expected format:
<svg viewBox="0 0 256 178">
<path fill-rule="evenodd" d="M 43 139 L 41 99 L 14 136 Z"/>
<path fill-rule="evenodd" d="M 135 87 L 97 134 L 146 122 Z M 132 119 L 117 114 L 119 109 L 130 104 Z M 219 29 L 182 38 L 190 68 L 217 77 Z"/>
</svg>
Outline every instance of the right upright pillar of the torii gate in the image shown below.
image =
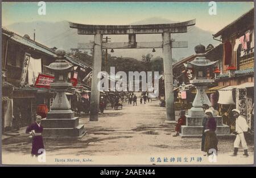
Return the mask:
<svg viewBox="0 0 256 178">
<path fill-rule="evenodd" d="M 164 65 L 164 88 L 166 94 L 167 120 L 175 121 L 174 111 L 174 79 L 172 75 L 172 51 L 171 34 L 168 30 L 162 33 L 163 38 L 163 65 Z"/>
</svg>

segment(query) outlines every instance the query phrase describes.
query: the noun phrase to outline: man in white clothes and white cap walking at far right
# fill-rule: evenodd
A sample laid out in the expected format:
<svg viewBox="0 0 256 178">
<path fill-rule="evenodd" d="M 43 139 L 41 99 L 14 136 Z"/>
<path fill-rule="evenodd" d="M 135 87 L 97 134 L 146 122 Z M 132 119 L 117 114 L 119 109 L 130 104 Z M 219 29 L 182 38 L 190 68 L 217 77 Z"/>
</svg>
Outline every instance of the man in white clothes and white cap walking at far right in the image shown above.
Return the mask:
<svg viewBox="0 0 256 178">
<path fill-rule="evenodd" d="M 234 132 L 237 137 L 236 140 L 234 141 L 234 153 L 232 156 L 236 156 L 238 152 L 238 148 L 240 146 L 240 142 L 242 143 L 242 148 L 244 150 L 244 156 L 249 156 L 248 155 L 248 147 L 245 141 L 245 135 L 243 132 L 248 131 L 248 125 L 246 122 L 246 119 L 242 116 L 240 116 L 240 111 L 238 109 L 233 109 L 232 110 L 233 117 L 236 118 L 236 132 Z"/>
</svg>

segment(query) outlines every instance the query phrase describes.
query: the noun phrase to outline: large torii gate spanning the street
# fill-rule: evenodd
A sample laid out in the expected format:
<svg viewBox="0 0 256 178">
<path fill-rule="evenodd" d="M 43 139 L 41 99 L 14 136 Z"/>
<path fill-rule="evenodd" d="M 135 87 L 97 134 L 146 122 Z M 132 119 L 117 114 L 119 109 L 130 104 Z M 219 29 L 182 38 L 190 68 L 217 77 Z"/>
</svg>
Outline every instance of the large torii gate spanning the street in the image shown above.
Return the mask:
<svg viewBox="0 0 256 178">
<path fill-rule="evenodd" d="M 163 48 L 164 87 L 166 94 L 167 120 L 175 121 L 174 86 L 172 77 L 172 48 L 187 48 L 187 41 L 172 41 L 171 33 L 185 33 L 188 26 L 196 24 L 196 19 L 187 22 L 170 24 L 147 24 L 134 26 L 102 26 L 69 22 L 69 27 L 77 28 L 79 35 L 94 35 L 94 43 L 79 43 L 79 49 L 93 49 L 93 78 L 90 98 L 90 121 L 98 121 L 98 105 L 100 91 L 97 78 L 101 71 L 102 49 L 135 49 L 135 48 Z M 136 34 L 162 33 L 163 41 L 136 42 Z M 102 35 L 129 35 L 129 42 L 102 43 Z"/>
</svg>

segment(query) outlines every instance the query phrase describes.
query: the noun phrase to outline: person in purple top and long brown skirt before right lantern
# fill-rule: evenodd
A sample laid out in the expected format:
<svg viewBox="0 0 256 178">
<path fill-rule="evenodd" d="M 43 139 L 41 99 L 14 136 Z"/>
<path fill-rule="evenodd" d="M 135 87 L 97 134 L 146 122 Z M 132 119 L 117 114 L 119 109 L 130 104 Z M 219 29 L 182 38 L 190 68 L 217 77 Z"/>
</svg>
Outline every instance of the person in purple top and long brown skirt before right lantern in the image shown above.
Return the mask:
<svg viewBox="0 0 256 178">
<path fill-rule="evenodd" d="M 214 149 L 218 151 L 217 145 L 218 145 L 218 139 L 217 135 L 215 133 L 217 124 L 216 120 L 213 117 L 213 111 L 211 109 L 207 109 L 205 111 L 205 117 L 207 118 L 207 121 L 205 123 L 205 141 L 204 141 L 204 151 L 207 152 L 207 155 L 211 155 L 212 152 L 210 152 L 210 149 Z"/>
</svg>

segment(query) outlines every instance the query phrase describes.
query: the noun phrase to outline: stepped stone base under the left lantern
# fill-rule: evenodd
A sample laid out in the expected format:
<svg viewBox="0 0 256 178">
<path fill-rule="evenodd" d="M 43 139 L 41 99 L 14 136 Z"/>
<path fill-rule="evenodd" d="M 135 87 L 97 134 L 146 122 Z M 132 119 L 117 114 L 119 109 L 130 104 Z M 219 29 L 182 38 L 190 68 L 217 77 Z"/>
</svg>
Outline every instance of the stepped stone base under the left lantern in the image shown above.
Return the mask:
<svg viewBox="0 0 256 178">
<path fill-rule="evenodd" d="M 85 133 L 79 117 L 71 110 L 52 110 L 42 119 L 43 137 L 80 137 Z"/>
</svg>

